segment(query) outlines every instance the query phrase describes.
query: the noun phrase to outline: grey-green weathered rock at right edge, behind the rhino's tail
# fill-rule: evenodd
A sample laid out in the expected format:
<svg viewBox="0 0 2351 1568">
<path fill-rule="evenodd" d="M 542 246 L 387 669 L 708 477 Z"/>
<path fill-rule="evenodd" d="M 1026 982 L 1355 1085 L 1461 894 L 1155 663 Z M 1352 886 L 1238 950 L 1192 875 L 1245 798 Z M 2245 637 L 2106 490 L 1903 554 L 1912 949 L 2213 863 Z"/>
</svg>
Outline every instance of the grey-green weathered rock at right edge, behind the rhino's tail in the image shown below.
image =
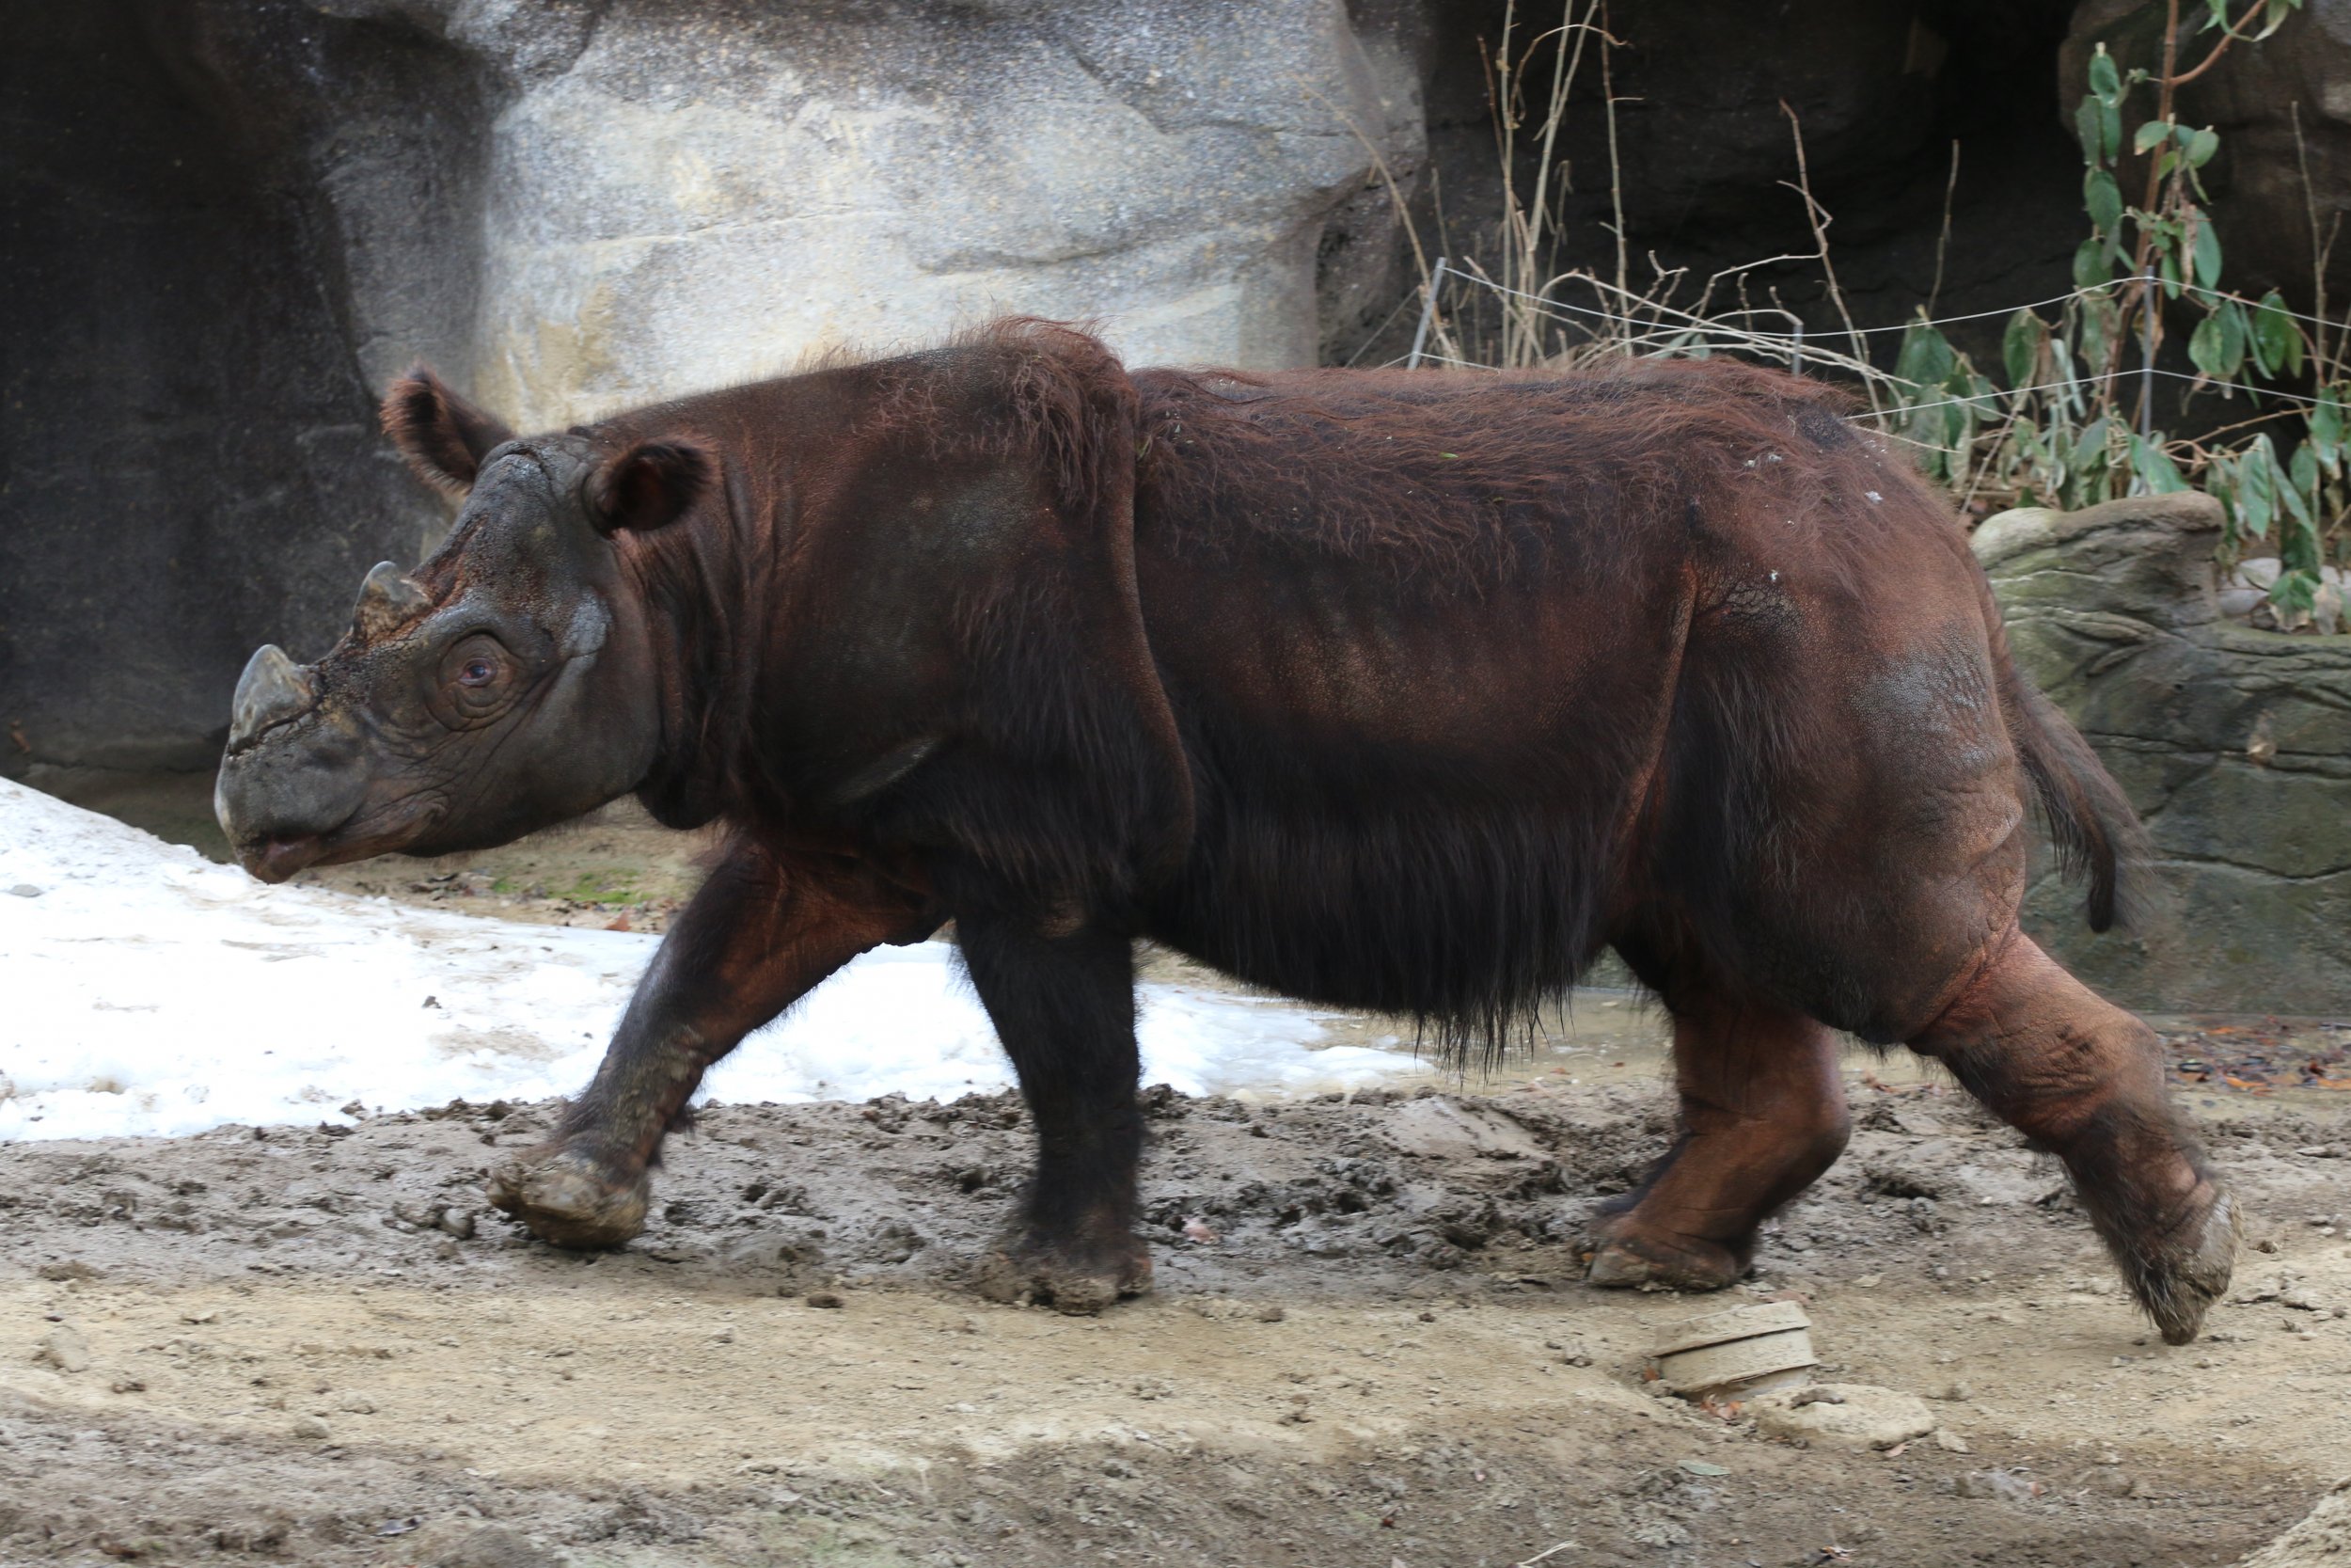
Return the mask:
<svg viewBox="0 0 2351 1568">
<path fill-rule="evenodd" d="M 2351 1006 L 2351 637 L 2259 632 L 2217 609 L 2208 496 L 1987 520 L 1975 555 L 2017 665 L 2081 726 L 2156 846 L 2149 919 L 2092 936 L 2036 879 L 2027 929 L 2151 1011 Z"/>
</svg>

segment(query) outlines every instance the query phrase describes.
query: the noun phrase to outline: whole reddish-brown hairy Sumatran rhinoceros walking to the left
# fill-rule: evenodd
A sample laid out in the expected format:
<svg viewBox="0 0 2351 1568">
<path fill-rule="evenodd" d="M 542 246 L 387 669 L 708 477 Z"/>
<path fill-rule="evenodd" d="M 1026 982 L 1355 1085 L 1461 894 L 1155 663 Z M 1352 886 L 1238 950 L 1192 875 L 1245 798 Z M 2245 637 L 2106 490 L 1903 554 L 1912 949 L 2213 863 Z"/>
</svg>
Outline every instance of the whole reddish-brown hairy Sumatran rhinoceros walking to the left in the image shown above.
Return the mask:
<svg viewBox="0 0 2351 1568">
<path fill-rule="evenodd" d="M 1820 386 L 1126 371 L 1004 322 L 515 437 L 383 404 L 463 496 L 315 665 L 254 654 L 221 825 L 263 879 L 503 844 L 635 792 L 731 849 L 491 1201 L 637 1234 L 703 1072 L 952 919 L 1037 1126 L 992 1295 L 1147 1288 L 1133 943 L 1495 1039 L 1603 950 L 1681 1135 L 1592 1281 L 1712 1288 L 1843 1150 L 1836 1032 L 2071 1171 L 2163 1338 L 2231 1201 L 2156 1039 L 2017 931 L 2027 797 L 2116 919 L 2137 823 L 2010 665 L 1944 501 Z"/>
</svg>

